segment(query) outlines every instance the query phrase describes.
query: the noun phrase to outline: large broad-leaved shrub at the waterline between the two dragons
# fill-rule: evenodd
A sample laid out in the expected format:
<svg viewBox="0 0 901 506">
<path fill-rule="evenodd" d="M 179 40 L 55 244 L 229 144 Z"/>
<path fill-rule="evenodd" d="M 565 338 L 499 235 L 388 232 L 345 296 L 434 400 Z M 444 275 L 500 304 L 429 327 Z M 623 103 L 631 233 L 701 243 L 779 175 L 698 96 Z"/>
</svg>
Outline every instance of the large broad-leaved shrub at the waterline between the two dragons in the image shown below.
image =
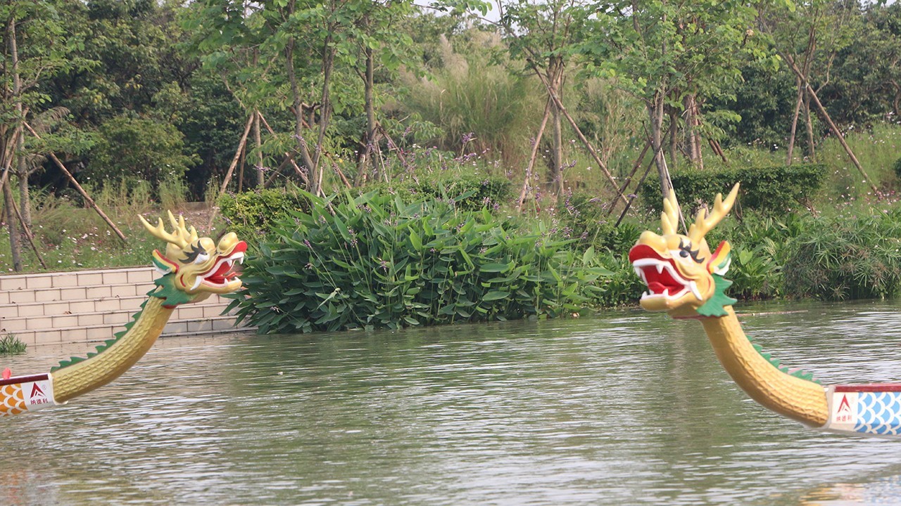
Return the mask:
<svg viewBox="0 0 901 506">
<path fill-rule="evenodd" d="M 278 222 L 234 295 L 261 333 L 556 317 L 609 274 L 541 222 L 523 229 L 487 209 L 375 192 L 305 198 L 309 211 Z"/>
</svg>

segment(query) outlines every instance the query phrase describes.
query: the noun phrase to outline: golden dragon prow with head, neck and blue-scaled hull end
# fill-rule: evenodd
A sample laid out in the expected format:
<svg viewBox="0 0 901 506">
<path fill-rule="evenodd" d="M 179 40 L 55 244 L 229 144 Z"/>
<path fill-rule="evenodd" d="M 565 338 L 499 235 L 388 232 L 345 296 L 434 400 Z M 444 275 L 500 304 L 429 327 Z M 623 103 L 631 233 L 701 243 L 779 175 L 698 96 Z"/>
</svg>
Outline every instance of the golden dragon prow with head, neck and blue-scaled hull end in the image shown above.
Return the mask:
<svg viewBox="0 0 901 506">
<path fill-rule="evenodd" d="M 771 411 L 827 432 L 901 438 L 901 384 L 824 387 L 813 375 L 781 365 L 745 336 L 724 291 L 731 248 L 711 252 L 705 235 L 732 209 L 739 185 L 717 194 L 712 211 L 701 209 L 687 235 L 678 233 L 678 202 L 669 192 L 660 215 L 661 234 L 645 230 L 629 251 L 635 273 L 648 286 L 642 308 L 700 321 L 714 353 L 733 381 Z"/>
</svg>

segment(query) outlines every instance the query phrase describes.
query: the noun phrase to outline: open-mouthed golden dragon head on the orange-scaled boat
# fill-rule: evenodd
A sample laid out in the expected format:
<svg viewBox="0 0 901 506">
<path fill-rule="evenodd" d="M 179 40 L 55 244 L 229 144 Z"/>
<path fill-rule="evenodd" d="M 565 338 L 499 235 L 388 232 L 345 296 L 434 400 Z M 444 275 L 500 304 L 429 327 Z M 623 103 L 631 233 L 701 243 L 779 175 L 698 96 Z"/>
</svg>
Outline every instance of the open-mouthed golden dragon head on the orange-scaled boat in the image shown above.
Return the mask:
<svg viewBox="0 0 901 506">
<path fill-rule="evenodd" d="M 166 231 L 162 219 L 153 226 L 143 216 L 139 218 L 150 234 L 168 243 L 165 252 L 153 251 L 153 265 L 163 275 L 156 281 L 160 289 L 154 296 L 176 305 L 241 289 L 241 279 L 232 267 L 243 263 L 247 243 L 239 240 L 234 232 L 225 234 L 216 243 L 208 237 L 197 237 L 197 230 L 187 228 L 185 218 L 178 216 L 176 220 L 172 212 L 168 212 L 171 232 Z"/>
</svg>

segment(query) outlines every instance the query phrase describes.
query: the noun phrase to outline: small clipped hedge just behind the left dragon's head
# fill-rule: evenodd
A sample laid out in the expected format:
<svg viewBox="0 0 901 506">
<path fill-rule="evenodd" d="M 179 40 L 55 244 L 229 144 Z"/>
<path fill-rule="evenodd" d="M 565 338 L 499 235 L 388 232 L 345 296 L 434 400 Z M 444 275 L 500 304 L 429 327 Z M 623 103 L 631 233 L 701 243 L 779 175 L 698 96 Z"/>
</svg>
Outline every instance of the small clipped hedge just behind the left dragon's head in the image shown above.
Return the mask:
<svg viewBox="0 0 901 506">
<path fill-rule="evenodd" d="M 217 202 L 230 231 L 254 247 L 278 221 L 292 211 L 308 209 L 303 194 L 294 188 L 261 189 L 241 194 L 223 194 Z"/>
</svg>

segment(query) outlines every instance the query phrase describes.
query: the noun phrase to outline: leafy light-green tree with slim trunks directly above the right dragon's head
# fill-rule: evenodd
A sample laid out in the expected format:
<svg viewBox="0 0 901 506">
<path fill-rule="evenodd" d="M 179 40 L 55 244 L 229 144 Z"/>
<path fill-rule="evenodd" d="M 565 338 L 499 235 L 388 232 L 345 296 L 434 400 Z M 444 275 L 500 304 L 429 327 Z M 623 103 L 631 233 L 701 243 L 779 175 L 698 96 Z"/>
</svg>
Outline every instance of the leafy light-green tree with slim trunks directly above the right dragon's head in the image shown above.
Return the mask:
<svg viewBox="0 0 901 506">
<path fill-rule="evenodd" d="M 591 68 L 615 77 L 644 104 L 660 192 L 666 196 L 664 135 L 669 132 L 669 157 L 675 161 L 678 120 L 685 115 L 689 158 L 700 163 L 700 105 L 740 81 L 745 59 L 768 56 L 752 30 L 757 13 L 746 4 L 714 0 L 599 2 L 595 11 L 594 30 L 584 45 Z M 669 131 L 664 129 L 668 116 Z"/>
</svg>

